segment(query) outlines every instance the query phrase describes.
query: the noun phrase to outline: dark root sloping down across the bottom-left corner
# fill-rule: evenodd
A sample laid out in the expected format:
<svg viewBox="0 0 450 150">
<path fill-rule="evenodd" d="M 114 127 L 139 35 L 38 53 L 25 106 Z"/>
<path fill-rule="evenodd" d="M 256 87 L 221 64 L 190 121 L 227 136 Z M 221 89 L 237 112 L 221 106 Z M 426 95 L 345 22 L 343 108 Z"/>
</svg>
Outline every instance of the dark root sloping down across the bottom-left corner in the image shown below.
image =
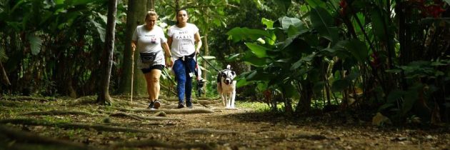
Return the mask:
<svg viewBox="0 0 450 150">
<path fill-rule="evenodd" d="M 50 139 L 42 136 L 36 136 L 36 134 L 28 133 L 24 131 L 17 131 L 10 129 L 9 127 L 0 125 L 0 135 L 4 135 L 16 142 L 26 142 L 33 144 L 46 144 L 46 145 L 59 145 L 64 149 L 89 149 L 83 144 L 77 144 L 70 141 L 63 141 L 57 139 Z"/>
</svg>

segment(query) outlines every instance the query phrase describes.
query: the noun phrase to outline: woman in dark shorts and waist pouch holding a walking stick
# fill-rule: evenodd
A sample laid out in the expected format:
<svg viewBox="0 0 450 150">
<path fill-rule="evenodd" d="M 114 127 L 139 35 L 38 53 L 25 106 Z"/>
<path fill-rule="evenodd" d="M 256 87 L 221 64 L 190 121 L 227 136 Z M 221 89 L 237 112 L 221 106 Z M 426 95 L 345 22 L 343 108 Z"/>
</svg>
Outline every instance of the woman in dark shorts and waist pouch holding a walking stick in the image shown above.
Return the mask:
<svg viewBox="0 0 450 150">
<path fill-rule="evenodd" d="M 156 20 L 158 20 L 156 11 L 148 11 L 145 16 L 146 24 L 136 27 L 131 41 L 133 51 L 136 47 L 139 51 L 138 68 L 145 75 L 150 100 L 149 109 L 158 109 L 161 106 L 158 101 L 159 77 L 164 64 L 171 66 L 169 45 L 167 45 L 164 31 L 155 25 Z M 164 54 L 168 61 L 165 61 Z"/>
</svg>

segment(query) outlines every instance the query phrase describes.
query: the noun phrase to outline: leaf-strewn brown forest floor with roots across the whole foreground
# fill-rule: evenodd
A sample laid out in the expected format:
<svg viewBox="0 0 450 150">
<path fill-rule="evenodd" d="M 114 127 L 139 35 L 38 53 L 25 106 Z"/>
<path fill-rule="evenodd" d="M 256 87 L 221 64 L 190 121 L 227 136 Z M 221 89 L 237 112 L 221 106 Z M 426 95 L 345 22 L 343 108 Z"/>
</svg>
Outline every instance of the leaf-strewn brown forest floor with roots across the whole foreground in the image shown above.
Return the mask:
<svg viewBox="0 0 450 150">
<path fill-rule="evenodd" d="M 0 98 L 0 149 L 450 149 L 448 126 L 377 127 L 351 114 L 284 116 L 219 100 L 149 110 L 144 98 L 94 99 Z"/>
</svg>

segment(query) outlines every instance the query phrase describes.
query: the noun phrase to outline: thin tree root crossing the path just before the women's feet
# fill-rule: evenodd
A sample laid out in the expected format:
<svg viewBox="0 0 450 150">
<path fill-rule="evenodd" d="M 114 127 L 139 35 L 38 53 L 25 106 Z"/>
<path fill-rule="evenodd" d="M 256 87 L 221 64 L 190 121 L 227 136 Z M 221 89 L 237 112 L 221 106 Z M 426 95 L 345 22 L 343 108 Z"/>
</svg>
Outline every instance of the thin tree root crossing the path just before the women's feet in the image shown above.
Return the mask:
<svg viewBox="0 0 450 150">
<path fill-rule="evenodd" d="M 134 112 L 159 112 L 164 111 L 166 114 L 201 114 L 201 113 L 214 113 L 209 109 L 124 109 L 115 108 L 120 111 L 134 111 Z"/>
</svg>

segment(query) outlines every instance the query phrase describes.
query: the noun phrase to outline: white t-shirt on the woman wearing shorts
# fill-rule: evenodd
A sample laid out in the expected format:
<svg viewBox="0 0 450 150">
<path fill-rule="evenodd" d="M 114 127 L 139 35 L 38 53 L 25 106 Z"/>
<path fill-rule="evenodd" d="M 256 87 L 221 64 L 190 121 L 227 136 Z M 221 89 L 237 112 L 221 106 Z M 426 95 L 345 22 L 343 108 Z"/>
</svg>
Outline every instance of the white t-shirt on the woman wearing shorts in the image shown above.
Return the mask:
<svg viewBox="0 0 450 150">
<path fill-rule="evenodd" d="M 137 26 L 134 30 L 133 41 L 137 41 L 137 50 L 139 53 L 153 53 L 161 51 L 161 44 L 166 43 L 167 39 L 164 36 L 164 31 L 159 26 L 153 26 L 151 31 L 148 31 L 145 25 Z"/>
</svg>

